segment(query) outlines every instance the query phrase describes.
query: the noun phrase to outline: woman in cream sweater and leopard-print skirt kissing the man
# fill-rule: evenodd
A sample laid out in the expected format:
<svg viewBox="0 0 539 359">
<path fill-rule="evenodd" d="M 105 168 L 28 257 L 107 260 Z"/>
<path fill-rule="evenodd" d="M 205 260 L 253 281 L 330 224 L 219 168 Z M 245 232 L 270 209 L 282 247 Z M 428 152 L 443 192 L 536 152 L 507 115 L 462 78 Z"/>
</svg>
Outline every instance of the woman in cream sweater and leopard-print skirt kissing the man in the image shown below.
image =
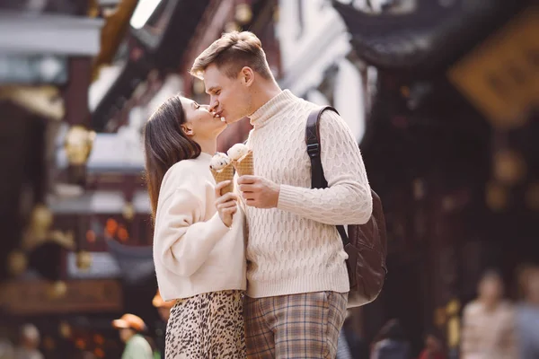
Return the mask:
<svg viewBox="0 0 539 359">
<path fill-rule="evenodd" d="M 176 300 L 166 358 L 243 358 L 243 214 L 234 193 L 220 196 L 209 170 L 226 123 L 174 96 L 145 127 L 147 187 L 154 215 L 154 261 L 164 301 Z"/>
</svg>

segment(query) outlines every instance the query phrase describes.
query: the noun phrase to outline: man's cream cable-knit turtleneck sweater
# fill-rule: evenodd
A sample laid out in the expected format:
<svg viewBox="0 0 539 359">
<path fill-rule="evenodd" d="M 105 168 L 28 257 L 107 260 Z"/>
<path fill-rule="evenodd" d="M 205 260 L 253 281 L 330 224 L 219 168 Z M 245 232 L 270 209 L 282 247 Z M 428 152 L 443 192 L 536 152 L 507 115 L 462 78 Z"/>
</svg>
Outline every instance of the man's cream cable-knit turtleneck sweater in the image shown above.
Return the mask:
<svg viewBox="0 0 539 359">
<path fill-rule="evenodd" d="M 245 208 L 251 297 L 349 291 L 347 254 L 335 224 L 367 223 L 372 197 L 358 144 L 332 111 L 320 123 L 329 188 L 310 188 L 305 124 L 314 108 L 286 90 L 250 116 L 254 174 L 280 185 L 277 208 Z"/>
</svg>

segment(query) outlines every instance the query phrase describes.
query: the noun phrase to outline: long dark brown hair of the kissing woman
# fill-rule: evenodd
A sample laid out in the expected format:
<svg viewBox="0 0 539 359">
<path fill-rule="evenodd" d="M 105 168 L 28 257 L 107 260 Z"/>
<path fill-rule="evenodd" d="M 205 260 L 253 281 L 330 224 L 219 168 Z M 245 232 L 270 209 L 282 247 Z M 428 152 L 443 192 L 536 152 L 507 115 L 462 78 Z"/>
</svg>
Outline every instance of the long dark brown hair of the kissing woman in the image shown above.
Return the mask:
<svg viewBox="0 0 539 359">
<path fill-rule="evenodd" d="M 144 127 L 146 185 L 154 221 L 159 190 L 166 171 L 181 160 L 199 157 L 201 152 L 199 144 L 181 129 L 185 121 L 181 96 L 176 95 L 164 101 Z"/>
</svg>

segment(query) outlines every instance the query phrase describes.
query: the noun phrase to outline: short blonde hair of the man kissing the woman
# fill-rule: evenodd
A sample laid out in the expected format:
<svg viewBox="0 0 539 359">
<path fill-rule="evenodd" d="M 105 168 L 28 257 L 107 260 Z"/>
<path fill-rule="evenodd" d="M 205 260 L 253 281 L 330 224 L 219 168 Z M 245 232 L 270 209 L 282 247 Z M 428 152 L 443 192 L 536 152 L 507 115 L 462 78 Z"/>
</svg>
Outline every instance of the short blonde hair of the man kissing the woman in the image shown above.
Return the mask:
<svg viewBox="0 0 539 359">
<path fill-rule="evenodd" d="M 229 78 L 235 78 L 244 66 L 251 67 L 267 80 L 272 78 L 261 40 L 251 31 L 223 34 L 195 59 L 190 74 L 202 80 L 211 64 L 216 64 Z"/>
</svg>

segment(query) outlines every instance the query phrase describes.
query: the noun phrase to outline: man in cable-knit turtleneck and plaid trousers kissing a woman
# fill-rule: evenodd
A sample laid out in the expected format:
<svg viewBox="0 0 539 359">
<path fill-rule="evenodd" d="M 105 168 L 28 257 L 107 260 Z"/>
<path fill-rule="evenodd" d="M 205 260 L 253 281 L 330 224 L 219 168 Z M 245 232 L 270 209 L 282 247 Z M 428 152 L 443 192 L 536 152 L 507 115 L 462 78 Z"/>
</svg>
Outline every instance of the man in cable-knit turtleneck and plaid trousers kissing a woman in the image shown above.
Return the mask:
<svg viewBox="0 0 539 359">
<path fill-rule="evenodd" d="M 210 109 L 249 117 L 255 176 L 237 180 L 249 237 L 245 332 L 252 358 L 334 358 L 349 279 L 336 224 L 367 223 L 372 197 L 358 144 L 336 113 L 323 113 L 322 162 L 329 188 L 311 189 L 305 124 L 316 105 L 281 91 L 261 41 L 226 33 L 195 60 Z"/>
</svg>

